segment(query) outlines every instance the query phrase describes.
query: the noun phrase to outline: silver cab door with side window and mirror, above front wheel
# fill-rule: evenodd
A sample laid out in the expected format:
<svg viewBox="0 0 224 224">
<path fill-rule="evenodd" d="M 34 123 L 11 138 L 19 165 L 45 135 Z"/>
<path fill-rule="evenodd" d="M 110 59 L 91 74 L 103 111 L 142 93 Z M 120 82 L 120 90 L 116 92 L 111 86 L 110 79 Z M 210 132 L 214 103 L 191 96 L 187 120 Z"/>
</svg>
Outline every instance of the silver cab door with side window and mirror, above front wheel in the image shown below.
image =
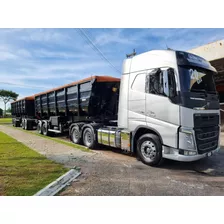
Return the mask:
<svg viewBox="0 0 224 224">
<path fill-rule="evenodd" d="M 146 123 L 157 131 L 163 144 L 177 148 L 179 127 L 179 105 L 176 96 L 174 70 L 158 68 L 149 70 L 146 75 Z"/>
</svg>

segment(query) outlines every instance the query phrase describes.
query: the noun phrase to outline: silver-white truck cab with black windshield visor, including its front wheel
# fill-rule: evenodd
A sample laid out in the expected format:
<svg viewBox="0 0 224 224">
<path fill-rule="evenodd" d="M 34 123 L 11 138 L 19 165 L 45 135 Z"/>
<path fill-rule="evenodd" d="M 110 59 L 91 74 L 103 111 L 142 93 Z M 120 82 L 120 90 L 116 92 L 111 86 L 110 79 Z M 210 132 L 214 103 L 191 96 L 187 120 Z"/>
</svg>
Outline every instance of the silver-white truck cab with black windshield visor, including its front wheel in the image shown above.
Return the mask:
<svg viewBox="0 0 224 224">
<path fill-rule="evenodd" d="M 205 59 L 153 50 L 127 58 L 120 83 L 118 128 L 143 163 L 195 161 L 219 150 L 220 111 Z M 122 138 L 122 136 L 121 136 Z"/>
</svg>

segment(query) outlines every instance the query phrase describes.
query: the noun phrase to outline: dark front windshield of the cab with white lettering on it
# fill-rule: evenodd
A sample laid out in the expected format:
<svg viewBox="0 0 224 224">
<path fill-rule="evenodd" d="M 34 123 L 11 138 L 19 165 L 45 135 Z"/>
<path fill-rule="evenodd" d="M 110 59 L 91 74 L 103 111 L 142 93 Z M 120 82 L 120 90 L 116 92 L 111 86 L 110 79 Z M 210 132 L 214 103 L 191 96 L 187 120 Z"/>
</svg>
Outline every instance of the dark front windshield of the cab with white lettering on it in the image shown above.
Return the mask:
<svg viewBox="0 0 224 224">
<path fill-rule="evenodd" d="M 204 92 L 216 94 L 213 75 L 215 72 L 206 69 L 179 66 L 182 92 Z"/>
</svg>

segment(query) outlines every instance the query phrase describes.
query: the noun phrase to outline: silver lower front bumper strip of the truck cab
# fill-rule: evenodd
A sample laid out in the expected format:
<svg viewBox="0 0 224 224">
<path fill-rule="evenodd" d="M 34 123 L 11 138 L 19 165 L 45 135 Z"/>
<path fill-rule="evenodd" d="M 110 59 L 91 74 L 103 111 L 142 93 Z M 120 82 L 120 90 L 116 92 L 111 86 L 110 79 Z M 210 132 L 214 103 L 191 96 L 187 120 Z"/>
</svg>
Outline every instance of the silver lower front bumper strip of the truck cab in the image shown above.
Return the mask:
<svg viewBox="0 0 224 224">
<path fill-rule="evenodd" d="M 180 155 L 178 149 L 163 146 L 163 158 L 176 160 L 176 161 L 182 161 L 182 162 L 192 162 L 192 161 L 196 161 L 196 160 L 214 155 L 218 153 L 219 149 L 220 147 L 208 153 L 186 156 L 186 155 Z"/>
</svg>

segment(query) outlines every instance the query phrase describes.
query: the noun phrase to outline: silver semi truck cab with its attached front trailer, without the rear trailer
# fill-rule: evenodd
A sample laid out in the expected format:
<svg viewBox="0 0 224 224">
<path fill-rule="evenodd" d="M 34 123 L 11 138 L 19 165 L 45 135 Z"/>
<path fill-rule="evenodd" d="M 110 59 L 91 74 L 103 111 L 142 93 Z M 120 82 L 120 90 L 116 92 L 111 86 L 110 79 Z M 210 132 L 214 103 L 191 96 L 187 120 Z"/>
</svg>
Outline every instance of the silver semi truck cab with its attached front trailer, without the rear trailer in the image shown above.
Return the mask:
<svg viewBox="0 0 224 224">
<path fill-rule="evenodd" d="M 220 148 L 211 64 L 174 50 L 130 54 L 121 79 L 94 76 L 35 95 L 37 130 L 134 153 L 145 164 L 196 161 Z"/>
</svg>

